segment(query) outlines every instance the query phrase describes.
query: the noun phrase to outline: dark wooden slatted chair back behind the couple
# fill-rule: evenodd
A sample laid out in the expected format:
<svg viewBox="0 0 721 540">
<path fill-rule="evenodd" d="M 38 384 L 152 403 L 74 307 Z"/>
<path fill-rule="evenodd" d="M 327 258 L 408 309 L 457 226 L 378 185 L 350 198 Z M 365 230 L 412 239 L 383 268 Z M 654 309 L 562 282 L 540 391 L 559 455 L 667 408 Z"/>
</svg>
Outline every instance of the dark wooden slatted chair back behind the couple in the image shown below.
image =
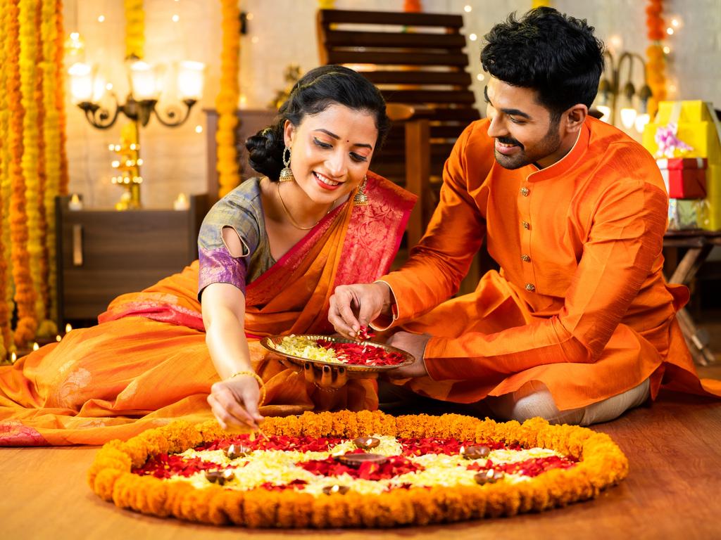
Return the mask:
<svg viewBox="0 0 721 540">
<path fill-rule="evenodd" d="M 322 63 L 344 64 L 381 89 L 386 102 L 409 104 L 430 122 L 430 176 L 440 180 L 451 148 L 472 120 L 475 96 L 466 71 L 461 15 L 321 9 L 317 30 Z M 405 177 L 402 126 L 389 134 L 373 171 Z M 427 211 L 427 209 L 425 209 Z M 424 220 L 425 221 L 425 220 Z"/>
</svg>

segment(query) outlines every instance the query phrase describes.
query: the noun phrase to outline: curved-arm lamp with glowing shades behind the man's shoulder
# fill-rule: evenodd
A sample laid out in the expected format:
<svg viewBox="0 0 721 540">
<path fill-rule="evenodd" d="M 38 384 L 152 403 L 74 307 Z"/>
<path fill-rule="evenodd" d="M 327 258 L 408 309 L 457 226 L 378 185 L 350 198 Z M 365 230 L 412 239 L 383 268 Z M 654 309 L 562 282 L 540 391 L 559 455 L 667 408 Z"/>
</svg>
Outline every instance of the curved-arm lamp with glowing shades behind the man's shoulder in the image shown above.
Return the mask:
<svg viewBox="0 0 721 540">
<path fill-rule="evenodd" d="M 636 93 L 636 87 L 632 83 L 633 60 L 640 60 L 643 69 L 643 86 Z M 596 96 L 595 107 L 603 116 L 601 120 L 611 125 L 616 123 L 616 109 L 619 110 L 622 125 L 627 129 L 636 127 L 642 131 L 649 122 L 648 100 L 652 96 L 650 86 L 646 81 L 646 63 L 637 53 L 622 53 L 616 63 L 616 58 L 608 50 L 603 51 L 603 73 L 606 77 L 598 84 L 598 96 Z M 626 84 L 621 86 L 622 68 L 624 62 L 628 63 L 628 74 Z M 639 102 L 638 109 L 634 107 L 634 97 Z"/>
</svg>

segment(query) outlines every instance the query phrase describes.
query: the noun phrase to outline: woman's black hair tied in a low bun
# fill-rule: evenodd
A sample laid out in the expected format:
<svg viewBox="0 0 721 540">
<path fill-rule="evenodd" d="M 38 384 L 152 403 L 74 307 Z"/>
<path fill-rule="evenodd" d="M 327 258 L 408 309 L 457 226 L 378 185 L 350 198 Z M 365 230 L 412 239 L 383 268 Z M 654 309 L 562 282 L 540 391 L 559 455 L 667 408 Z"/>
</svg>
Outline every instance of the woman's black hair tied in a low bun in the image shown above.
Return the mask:
<svg viewBox="0 0 721 540">
<path fill-rule="evenodd" d="M 273 125 L 248 138 L 245 148 L 250 166 L 269 179 L 278 180 L 286 147 L 283 142 L 286 120 L 297 126 L 306 114 L 318 114 L 332 104 L 373 114 L 378 129 L 377 151 L 390 128 L 381 92 L 357 71 L 331 64 L 311 69 L 301 77 L 291 89 L 288 100 L 278 109 Z"/>
</svg>

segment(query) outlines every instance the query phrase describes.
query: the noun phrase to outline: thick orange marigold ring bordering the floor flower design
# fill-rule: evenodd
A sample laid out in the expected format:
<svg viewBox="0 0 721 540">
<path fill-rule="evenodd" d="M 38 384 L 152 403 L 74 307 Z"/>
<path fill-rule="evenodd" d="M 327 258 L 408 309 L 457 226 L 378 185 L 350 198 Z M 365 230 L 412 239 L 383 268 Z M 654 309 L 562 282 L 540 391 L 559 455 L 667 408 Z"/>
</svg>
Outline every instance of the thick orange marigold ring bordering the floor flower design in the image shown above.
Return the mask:
<svg viewBox="0 0 721 540">
<path fill-rule="evenodd" d="M 627 476 L 629 463 L 604 433 L 577 426 L 551 426 L 533 418 L 523 424 L 497 423 L 462 415 L 407 415 L 379 411 L 304 413 L 299 417 L 267 418 L 268 435 L 341 436 L 369 433 L 397 437 L 442 437 L 503 441 L 540 446 L 575 456 L 571 469 L 554 469 L 528 482 L 497 482 L 482 486 L 394 490 L 380 495 L 347 492 L 315 498 L 293 490 L 203 490 L 182 482 L 164 482 L 131 473 L 149 456 L 180 452 L 227 436 L 216 423 L 191 426 L 177 421 L 151 429 L 127 442 L 110 441 L 98 452 L 88 472 L 92 490 L 120 508 L 187 521 L 252 528 L 337 528 L 418 526 L 484 517 L 515 516 L 547 510 L 596 497 Z"/>
</svg>

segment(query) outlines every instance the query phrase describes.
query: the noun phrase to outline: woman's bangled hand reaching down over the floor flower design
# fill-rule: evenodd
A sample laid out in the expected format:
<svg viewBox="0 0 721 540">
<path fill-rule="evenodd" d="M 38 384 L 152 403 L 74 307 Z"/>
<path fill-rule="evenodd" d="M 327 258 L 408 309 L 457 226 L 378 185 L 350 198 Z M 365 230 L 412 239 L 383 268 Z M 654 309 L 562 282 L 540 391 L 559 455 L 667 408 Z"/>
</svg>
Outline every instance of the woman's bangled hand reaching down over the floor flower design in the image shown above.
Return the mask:
<svg viewBox="0 0 721 540">
<path fill-rule="evenodd" d="M 237 375 L 211 386 L 208 404 L 221 427 L 250 427 L 258 429 L 263 417 L 258 412 L 260 388 L 255 377 Z"/>
</svg>

